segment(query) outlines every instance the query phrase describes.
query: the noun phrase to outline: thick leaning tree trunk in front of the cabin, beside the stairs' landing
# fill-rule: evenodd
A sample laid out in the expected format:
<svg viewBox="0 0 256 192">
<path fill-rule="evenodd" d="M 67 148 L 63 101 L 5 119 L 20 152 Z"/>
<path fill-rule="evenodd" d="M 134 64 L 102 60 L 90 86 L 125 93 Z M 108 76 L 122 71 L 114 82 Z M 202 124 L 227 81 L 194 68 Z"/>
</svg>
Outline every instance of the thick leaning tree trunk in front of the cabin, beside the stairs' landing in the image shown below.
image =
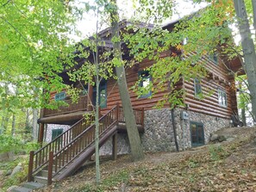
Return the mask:
<svg viewBox="0 0 256 192">
<path fill-rule="evenodd" d="M 112 43 L 114 50 L 114 58 L 122 61 L 121 42 L 119 40 L 119 15 L 117 12 L 116 0 L 111 0 L 113 10 L 110 12 Z M 116 8 L 116 9 L 115 9 Z M 115 40 L 114 40 L 115 39 Z M 140 144 L 140 135 L 136 125 L 134 110 L 128 93 L 128 85 L 126 81 L 125 69 L 123 65 L 116 66 L 117 84 L 122 100 L 122 108 L 126 120 L 128 139 L 131 146 L 132 158 L 134 161 L 144 158 L 142 146 Z"/>
</svg>

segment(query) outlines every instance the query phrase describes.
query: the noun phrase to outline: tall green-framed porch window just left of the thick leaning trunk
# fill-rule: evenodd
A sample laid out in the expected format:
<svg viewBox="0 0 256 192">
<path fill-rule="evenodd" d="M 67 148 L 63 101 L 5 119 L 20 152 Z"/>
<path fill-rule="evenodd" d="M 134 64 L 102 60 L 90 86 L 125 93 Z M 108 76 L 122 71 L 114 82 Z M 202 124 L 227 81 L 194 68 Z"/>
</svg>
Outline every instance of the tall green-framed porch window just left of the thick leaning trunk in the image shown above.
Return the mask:
<svg viewBox="0 0 256 192">
<path fill-rule="evenodd" d="M 107 81 L 102 80 L 99 85 L 99 98 L 98 98 L 100 108 L 107 107 Z M 93 88 L 93 101 L 92 104 L 96 105 L 96 87 Z"/>
</svg>

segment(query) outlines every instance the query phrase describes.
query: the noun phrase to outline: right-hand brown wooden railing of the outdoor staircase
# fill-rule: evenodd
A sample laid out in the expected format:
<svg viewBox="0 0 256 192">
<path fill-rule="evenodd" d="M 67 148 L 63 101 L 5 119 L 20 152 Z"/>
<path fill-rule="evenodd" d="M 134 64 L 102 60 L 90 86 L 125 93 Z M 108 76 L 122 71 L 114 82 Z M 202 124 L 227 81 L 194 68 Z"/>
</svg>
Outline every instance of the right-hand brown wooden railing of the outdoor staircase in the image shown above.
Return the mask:
<svg viewBox="0 0 256 192">
<path fill-rule="evenodd" d="M 109 128 L 114 127 L 118 123 L 118 113 L 116 113 L 118 111 L 118 108 L 119 108 L 118 106 L 111 108 L 107 114 L 99 118 L 99 123 L 102 123 L 103 121 L 107 121 L 107 123 L 102 124 L 103 128 L 100 128 L 99 130 L 99 137 L 101 137 L 103 133 L 107 132 Z M 111 116 L 110 121 L 108 120 L 109 115 Z M 95 123 L 92 124 L 90 127 L 87 127 L 82 133 L 80 133 L 70 143 L 64 146 L 59 152 L 54 154 L 53 158 L 55 159 L 54 161 L 55 170 L 53 170 L 54 171 L 53 177 L 56 176 L 59 173 L 59 171 L 63 170 L 67 164 L 70 164 L 74 158 L 78 157 L 79 154 L 84 152 L 87 147 L 91 146 L 94 143 L 95 134 L 94 133 L 92 134 L 92 137 L 89 138 L 88 143 L 86 143 L 87 138 L 85 138 L 86 136 L 85 134 L 89 133 L 91 129 L 95 127 L 96 127 Z M 85 146 L 81 146 L 81 142 L 79 143 L 79 139 L 83 139 L 83 137 L 84 137 L 84 140 L 81 142 L 83 142 Z M 76 143 L 79 143 L 80 148 L 75 146 Z M 70 154 L 71 156 L 69 156 L 69 154 L 66 154 L 66 152 L 68 152 L 68 149 L 70 149 L 72 146 L 74 146 L 73 152 L 71 152 L 72 154 Z M 65 154 L 66 154 L 66 157 L 65 157 Z M 64 163 L 64 160 L 66 160 L 66 164 Z"/>
</svg>

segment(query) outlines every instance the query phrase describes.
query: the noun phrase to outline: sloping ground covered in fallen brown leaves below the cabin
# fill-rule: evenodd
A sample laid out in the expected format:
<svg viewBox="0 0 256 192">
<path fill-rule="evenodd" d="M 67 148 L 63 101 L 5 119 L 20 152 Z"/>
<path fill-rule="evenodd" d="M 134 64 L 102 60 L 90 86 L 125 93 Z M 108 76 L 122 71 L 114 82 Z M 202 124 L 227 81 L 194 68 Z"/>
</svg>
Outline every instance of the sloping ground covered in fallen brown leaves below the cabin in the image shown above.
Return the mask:
<svg viewBox="0 0 256 192">
<path fill-rule="evenodd" d="M 147 153 L 131 162 L 128 155 L 101 161 L 101 184 L 95 166 L 37 191 L 256 191 L 256 127 L 222 129 L 234 139 L 185 152 Z"/>
</svg>

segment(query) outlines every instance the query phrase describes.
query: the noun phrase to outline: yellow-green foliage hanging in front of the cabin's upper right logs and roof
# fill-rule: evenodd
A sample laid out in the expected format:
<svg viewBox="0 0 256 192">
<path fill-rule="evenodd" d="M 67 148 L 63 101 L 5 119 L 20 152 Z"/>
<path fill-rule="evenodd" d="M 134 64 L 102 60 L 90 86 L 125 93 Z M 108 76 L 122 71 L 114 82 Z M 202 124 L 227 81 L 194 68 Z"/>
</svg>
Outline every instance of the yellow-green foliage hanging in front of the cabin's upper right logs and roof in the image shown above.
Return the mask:
<svg viewBox="0 0 256 192">
<path fill-rule="evenodd" d="M 165 102 L 171 103 L 172 108 L 183 105 L 185 90 L 176 89 L 180 79 L 206 77 L 207 65 L 202 60 L 209 60 L 209 54 L 218 53 L 222 56 L 222 53 L 228 53 L 228 48 L 224 49 L 224 43 L 233 45 L 228 22 L 224 22 L 226 17 L 227 12 L 223 9 L 209 6 L 174 23 L 172 33 L 161 27 L 148 29 L 146 25 L 145 28 L 135 28 L 135 33 L 123 34 L 123 40 L 130 48 L 130 55 L 134 57 L 134 63 L 146 59 L 154 61 L 146 69 L 153 79 L 147 90 L 141 90 L 139 82 L 134 85 L 139 96 L 148 90 L 152 90 L 154 96 L 168 86 L 170 93 L 159 101 L 159 107 Z M 153 84 L 158 89 L 153 89 Z"/>
</svg>

